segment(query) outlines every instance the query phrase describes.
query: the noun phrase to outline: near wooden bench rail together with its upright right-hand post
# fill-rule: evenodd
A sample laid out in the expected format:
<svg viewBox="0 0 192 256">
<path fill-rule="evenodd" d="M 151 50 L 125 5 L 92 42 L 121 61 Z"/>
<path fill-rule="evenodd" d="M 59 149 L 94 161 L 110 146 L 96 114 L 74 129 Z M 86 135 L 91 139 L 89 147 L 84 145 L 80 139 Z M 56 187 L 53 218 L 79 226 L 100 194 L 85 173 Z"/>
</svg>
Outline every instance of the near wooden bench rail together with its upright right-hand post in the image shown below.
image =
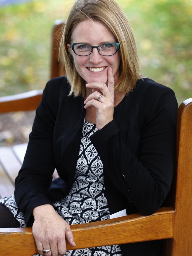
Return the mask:
<svg viewBox="0 0 192 256">
<path fill-rule="evenodd" d="M 167 207 L 150 216 L 136 213 L 71 225 L 76 247 L 67 244 L 67 249 L 167 239 L 162 256 L 192 255 L 192 98 L 179 107 L 176 137 L 175 175 Z M 37 253 L 32 228 L 1 228 L 0 255 L 21 253 L 25 256 Z"/>
</svg>

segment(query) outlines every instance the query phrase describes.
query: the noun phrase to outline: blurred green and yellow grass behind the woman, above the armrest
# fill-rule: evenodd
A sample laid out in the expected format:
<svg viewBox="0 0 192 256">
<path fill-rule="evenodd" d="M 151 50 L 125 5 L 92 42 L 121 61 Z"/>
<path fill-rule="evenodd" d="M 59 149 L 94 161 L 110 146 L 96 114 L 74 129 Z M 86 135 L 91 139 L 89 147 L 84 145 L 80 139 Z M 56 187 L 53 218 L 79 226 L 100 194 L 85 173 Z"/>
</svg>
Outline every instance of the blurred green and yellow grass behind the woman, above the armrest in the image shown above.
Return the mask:
<svg viewBox="0 0 192 256">
<path fill-rule="evenodd" d="M 0 7 L 0 94 L 44 88 L 51 30 L 74 1 L 42 0 Z M 192 1 L 117 0 L 134 29 L 141 74 L 192 97 Z"/>
</svg>

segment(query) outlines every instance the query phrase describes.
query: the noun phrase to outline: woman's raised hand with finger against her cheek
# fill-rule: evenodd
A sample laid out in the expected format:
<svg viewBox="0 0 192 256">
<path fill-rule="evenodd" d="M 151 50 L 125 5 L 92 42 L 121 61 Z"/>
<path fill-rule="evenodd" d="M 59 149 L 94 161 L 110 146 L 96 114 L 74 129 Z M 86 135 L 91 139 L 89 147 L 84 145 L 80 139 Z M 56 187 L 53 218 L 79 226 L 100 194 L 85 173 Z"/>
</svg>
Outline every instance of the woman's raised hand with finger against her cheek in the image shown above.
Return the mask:
<svg viewBox="0 0 192 256">
<path fill-rule="evenodd" d="M 102 129 L 106 124 L 113 120 L 114 112 L 114 77 L 112 68 L 107 71 L 108 86 L 101 82 L 91 82 L 86 84 L 87 88 L 93 88 L 92 93 L 84 101 L 84 108 L 91 106 L 96 108 L 96 127 Z M 100 95 L 103 95 L 97 101 Z"/>
</svg>

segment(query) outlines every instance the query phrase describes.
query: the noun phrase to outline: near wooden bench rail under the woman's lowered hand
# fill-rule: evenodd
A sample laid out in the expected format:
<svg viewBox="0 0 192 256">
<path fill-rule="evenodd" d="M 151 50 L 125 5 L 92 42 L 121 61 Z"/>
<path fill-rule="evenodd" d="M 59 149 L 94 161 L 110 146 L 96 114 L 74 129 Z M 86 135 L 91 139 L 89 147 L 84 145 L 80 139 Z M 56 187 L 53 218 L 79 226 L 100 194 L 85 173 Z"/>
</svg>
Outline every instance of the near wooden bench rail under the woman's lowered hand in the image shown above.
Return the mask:
<svg viewBox="0 0 192 256">
<path fill-rule="evenodd" d="M 150 216 L 128 216 L 86 224 L 70 225 L 75 247 L 67 250 L 125 244 L 173 237 L 174 210 L 160 208 Z M 111 235 L 113 234 L 113 235 Z M 37 253 L 32 228 L 0 228 L 0 255 L 25 256 Z"/>
</svg>

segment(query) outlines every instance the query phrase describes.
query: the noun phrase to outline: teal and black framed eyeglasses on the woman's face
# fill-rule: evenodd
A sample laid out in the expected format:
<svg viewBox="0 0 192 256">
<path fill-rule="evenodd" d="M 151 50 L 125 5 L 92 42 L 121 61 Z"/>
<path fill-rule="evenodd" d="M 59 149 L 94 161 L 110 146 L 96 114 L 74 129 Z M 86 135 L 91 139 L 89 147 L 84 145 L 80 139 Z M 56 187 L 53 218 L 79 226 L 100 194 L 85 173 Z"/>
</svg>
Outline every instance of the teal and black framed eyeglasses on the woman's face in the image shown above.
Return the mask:
<svg viewBox="0 0 192 256">
<path fill-rule="evenodd" d="M 93 48 L 102 56 L 114 55 L 119 49 L 119 43 L 103 43 L 99 46 L 90 46 L 84 43 L 71 43 L 71 48 L 79 56 L 87 56 L 92 53 Z"/>
</svg>

